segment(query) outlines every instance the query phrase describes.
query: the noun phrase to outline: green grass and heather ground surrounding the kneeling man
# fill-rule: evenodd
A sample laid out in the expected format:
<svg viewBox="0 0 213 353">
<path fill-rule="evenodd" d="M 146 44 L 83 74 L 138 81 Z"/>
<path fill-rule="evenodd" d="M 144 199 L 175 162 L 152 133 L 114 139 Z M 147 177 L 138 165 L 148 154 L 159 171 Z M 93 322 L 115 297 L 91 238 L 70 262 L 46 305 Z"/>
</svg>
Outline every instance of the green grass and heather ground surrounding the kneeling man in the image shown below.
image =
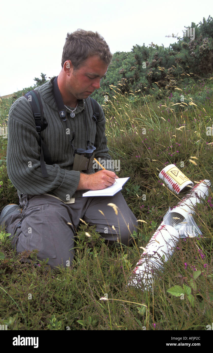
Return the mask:
<svg viewBox="0 0 213 353">
<path fill-rule="evenodd" d="M 2 229 L 0 323 L 11 330 L 206 330 L 213 317 L 211 190 L 194 215 L 203 235 L 179 241 L 164 271 L 156 274 L 153 292 L 129 287 L 128 279 L 141 247 L 146 246 L 169 206 L 181 198 L 163 187 L 160 170 L 175 163 L 194 183 L 202 179 L 213 183 L 213 137 L 206 135 L 206 127 L 213 124 L 212 81 L 201 80 L 203 86 L 194 80 L 187 85 L 180 81 L 172 97 L 171 91 L 162 91 L 160 100 L 154 94 L 142 97 L 139 92 L 124 97 L 119 86 L 112 87 L 114 101 L 103 106 L 108 146 L 112 158 L 120 159 L 118 176 L 130 177 L 122 191 L 127 204 L 137 219 L 144 221 L 138 222 L 134 245 L 107 246 L 95 227 L 82 224 L 72 265 L 50 270 L 45 262 L 40 267 L 34 260 L 23 263 L 29 253 L 16 254 Z M 204 97 L 206 88 L 210 99 Z M 185 104 L 178 104 L 179 91 Z M 196 98 L 199 92 L 201 100 Z M 172 101 L 174 97 L 176 101 Z M 6 126 L 12 99 L 0 103 L 0 124 Z M 19 204 L 17 191 L 8 180 L 6 146 L 7 139 L 0 138 L 1 209 L 8 203 Z M 35 257 L 36 252 L 31 253 L 31 258 Z M 186 295 L 181 299 L 168 292 L 174 286 L 190 286 L 196 270 L 201 274 L 192 289 L 194 305 Z M 107 296 L 108 300 L 100 300 Z"/>
</svg>

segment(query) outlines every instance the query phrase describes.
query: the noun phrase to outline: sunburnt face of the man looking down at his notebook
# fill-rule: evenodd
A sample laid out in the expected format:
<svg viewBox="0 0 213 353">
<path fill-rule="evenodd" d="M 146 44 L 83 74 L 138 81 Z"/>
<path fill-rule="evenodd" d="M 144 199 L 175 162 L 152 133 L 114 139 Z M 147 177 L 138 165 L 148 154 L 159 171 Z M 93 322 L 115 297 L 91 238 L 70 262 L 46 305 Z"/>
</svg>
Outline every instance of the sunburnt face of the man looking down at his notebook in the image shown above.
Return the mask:
<svg viewBox="0 0 213 353">
<path fill-rule="evenodd" d="M 107 73 L 108 65 L 99 56 L 93 55 L 87 58 L 77 70 L 71 70 L 67 80 L 69 94 L 77 99 L 85 99 L 95 89 L 100 88 L 102 77 Z"/>
</svg>

